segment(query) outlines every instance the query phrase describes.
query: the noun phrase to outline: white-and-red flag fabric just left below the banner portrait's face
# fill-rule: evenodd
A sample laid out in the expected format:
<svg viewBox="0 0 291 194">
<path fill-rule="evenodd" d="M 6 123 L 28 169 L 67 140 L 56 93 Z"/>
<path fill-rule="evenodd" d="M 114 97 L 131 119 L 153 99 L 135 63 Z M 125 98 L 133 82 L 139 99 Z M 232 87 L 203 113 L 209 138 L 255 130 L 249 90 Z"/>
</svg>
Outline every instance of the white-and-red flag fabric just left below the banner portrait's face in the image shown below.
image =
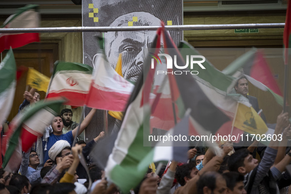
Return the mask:
<svg viewBox="0 0 291 194">
<path fill-rule="evenodd" d="M 124 111 L 134 85 L 114 71 L 104 54 L 97 54 L 96 57 L 96 67 L 85 104 L 95 109 Z"/>
</svg>

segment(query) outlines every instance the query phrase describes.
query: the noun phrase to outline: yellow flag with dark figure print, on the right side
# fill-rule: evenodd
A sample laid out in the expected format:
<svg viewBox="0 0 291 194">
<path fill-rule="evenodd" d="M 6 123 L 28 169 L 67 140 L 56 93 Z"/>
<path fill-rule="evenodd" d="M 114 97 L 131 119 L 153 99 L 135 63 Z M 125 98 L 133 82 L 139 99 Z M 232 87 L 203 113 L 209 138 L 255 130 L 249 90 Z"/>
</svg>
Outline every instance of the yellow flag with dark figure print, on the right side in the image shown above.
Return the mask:
<svg viewBox="0 0 291 194">
<path fill-rule="evenodd" d="M 250 134 L 265 134 L 268 131 L 263 119 L 253 107 L 238 103 L 234 127 Z"/>
</svg>

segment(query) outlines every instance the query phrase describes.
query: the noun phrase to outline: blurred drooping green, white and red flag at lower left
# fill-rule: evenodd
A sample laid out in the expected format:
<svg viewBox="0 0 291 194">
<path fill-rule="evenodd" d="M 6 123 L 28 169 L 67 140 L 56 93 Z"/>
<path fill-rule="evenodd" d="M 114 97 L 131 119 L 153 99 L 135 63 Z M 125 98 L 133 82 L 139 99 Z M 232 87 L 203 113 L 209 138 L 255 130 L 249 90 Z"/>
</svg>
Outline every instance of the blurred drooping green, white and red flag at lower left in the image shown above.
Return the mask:
<svg viewBox="0 0 291 194">
<path fill-rule="evenodd" d="M 52 98 L 40 101 L 17 114 L 10 123 L 7 135 L 6 152 L 2 167 L 15 172 L 21 163 L 22 151 L 26 152 L 51 124 L 52 119 L 60 111 L 63 98 Z M 45 119 L 44 119 L 45 118 Z"/>
</svg>

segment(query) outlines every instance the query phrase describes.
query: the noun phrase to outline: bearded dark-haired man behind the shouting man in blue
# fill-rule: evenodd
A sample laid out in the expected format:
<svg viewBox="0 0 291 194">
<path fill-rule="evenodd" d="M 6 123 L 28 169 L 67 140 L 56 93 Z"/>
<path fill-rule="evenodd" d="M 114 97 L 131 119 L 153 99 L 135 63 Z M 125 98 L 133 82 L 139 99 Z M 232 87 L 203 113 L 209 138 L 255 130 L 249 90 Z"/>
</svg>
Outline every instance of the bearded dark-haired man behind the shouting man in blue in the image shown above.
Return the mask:
<svg viewBox="0 0 291 194">
<path fill-rule="evenodd" d="M 72 131 L 79 126 L 79 123 L 72 121 L 72 116 L 73 112 L 71 109 L 63 109 L 61 111 L 61 117 L 64 123 L 63 134 L 66 134 L 67 132 Z M 84 132 L 78 136 L 78 140 L 84 140 Z"/>
</svg>

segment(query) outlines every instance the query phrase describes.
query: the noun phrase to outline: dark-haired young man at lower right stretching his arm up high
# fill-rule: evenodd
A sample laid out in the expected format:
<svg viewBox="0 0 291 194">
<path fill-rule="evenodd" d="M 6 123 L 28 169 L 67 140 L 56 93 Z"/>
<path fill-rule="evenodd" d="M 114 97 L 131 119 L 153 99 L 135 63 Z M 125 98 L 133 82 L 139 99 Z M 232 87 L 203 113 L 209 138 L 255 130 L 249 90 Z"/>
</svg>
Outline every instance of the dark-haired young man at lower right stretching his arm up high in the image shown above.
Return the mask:
<svg viewBox="0 0 291 194">
<path fill-rule="evenodd" d="M 282 112 L 277 117 L 274 135 L 280 137 L 282 130 L 288 125 L 288 113 Z M 277 155 L 278 139 L 276 141 L 270 141 L 260 163 L 257 159 L 253 158 L 247 149 L 239 149 L 229 157 L 229 170 L 239 172 L 245 176 L 244 184 L 247 193 L 261 194 L 267 192 L 270 194 L 279 194 L 276 180 L 281 175 L 281 171 L 275 166 L 270 169 Z"/>
</svg>

